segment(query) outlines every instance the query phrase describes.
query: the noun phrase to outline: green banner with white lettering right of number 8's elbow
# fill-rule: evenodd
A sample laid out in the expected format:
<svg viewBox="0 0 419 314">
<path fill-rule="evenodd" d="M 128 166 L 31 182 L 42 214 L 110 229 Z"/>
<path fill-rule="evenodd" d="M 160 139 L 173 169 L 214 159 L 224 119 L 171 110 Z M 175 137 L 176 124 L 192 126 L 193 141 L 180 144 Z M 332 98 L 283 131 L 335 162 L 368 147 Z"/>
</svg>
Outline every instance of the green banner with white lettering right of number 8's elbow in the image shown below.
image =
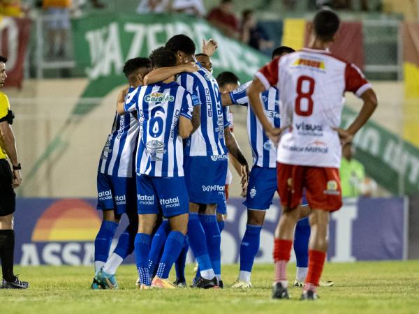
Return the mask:
<svg viewBox="0 0 419 314">
<path fill-rule="evenodd" d="M 345 107 L 343 128 L 355 119 L 357 112 Z M 393 194 L 405 195 L 419 190 L 419 149 L 397 137 L 373 121 L 359 131 L 354 139 L 355 158 L 378 184 Z"/>
</svg>

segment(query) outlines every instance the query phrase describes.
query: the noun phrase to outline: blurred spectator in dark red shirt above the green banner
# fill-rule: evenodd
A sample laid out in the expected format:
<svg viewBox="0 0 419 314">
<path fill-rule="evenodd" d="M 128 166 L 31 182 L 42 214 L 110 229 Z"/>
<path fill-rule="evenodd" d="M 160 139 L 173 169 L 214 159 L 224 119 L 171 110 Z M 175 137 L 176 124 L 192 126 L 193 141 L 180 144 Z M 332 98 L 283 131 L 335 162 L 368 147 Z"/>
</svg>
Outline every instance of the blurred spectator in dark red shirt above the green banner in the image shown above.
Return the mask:
<svg viewBox="0 0 419 314">
<path fill-rule="evenodd" d="M 239 38 L 240 27 L 233 13 L 233 0 L 221 0 L 220 5 L 211 10 L 207 20 L 227 36 Z"/>
</svg>

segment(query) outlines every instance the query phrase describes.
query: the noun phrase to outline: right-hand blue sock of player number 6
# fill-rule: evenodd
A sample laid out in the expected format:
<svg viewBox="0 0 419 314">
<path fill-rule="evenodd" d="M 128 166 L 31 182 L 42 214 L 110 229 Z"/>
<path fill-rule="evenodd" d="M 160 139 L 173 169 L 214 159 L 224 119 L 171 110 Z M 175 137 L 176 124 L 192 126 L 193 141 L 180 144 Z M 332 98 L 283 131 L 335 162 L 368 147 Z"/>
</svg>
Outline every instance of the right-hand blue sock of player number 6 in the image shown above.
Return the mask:
<svg viewBox="0 0 419 314">
<path fill-rule="evenodd" d="M 157 269 L 156 276 L 162 279 L 169 278 L 170 269 L 173 263 L 179 257 L 182 248 L 184 247 L 185 236 L 179 231 L 170 231 L 166 244 L 164 246 L 163 255 Z"/>
</svg>

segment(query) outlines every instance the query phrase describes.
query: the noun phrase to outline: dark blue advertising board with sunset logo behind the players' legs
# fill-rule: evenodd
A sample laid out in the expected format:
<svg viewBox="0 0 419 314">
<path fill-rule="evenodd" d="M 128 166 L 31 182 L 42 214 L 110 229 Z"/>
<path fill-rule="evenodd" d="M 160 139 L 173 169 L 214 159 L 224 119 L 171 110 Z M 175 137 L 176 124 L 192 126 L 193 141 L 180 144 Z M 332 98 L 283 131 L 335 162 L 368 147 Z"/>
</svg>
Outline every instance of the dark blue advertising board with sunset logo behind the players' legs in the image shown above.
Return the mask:
<svg viewBox="0 0 419 314">
<path fill-rule="evenodd" d="M 329 260 L 401 260 L 406 246 L 404 202 L 398 197 L 346 200 L 344 207 L 332 214 Z M 95 206 L 94 199 L 18 199 L 15 262 L 22 266 L 93 264 L 93 241 L 101 225 Z M 273 232 L 279 214 L 275 200 L 267 211 L 256 262 L 272 262 Z M 230 200 L 228 221 L 221 234 L 223 263 L 238 261 L 246 217 L 242 200 Z M 125 225 L 123 221 L 117 235 Z M 188 256 L 191 262 L 192 255 Z M 131 255 L 126 263 L 133 262 Z"/>
</svg>

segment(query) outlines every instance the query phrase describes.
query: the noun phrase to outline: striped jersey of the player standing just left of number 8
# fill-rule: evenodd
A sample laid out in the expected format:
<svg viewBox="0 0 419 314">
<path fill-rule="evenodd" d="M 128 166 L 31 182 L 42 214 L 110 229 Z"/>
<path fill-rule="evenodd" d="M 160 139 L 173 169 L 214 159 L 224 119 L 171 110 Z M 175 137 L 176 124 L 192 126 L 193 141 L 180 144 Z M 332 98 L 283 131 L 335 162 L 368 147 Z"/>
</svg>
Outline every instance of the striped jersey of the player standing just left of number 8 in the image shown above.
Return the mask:
<svg viewBox="0 0 419 314">
<path fill-rule="evenodd" d="M 251 82 L 243 84 L 240 88 L 230 92 L 230 99 L 236 105 L 247 106 L 247 134 L 249 135 L 250 147 L 253 155 L 253 165 L 259 167 L 274 168 L 277 166 L 277 147 L 267 137 L 262 124 L 249 106 L 249 98 L 246 95 L 247 87 Z M 279 92 L 271 87 L 260 94 L 260 100 L 265 107 L 265 114 L 275 128 L 281 124 L 279 114 Z"/>
</svg>

